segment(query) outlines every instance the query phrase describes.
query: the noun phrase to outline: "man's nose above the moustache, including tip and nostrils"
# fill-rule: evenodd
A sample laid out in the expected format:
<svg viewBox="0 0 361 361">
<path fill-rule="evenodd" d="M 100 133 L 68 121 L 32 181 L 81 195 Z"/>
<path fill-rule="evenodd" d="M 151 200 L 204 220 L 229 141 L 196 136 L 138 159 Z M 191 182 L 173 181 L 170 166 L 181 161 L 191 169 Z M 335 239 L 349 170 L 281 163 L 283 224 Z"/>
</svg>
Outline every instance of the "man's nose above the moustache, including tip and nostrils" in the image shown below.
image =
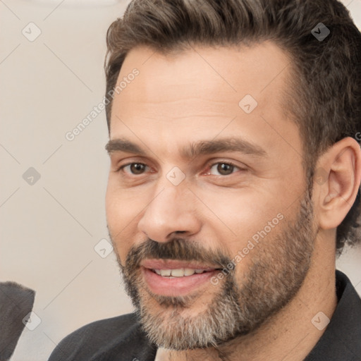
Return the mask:
<svg viewBox="0 0 361 361">
<path fill-rule="evenodd" d="M 189 237 L 200 231 L 194 195 L 188 188 L 169 185 L 159 190 L 148 204 L 138 228 L 148 238 L 167 242 L 173 237 Z"/>
</svg>

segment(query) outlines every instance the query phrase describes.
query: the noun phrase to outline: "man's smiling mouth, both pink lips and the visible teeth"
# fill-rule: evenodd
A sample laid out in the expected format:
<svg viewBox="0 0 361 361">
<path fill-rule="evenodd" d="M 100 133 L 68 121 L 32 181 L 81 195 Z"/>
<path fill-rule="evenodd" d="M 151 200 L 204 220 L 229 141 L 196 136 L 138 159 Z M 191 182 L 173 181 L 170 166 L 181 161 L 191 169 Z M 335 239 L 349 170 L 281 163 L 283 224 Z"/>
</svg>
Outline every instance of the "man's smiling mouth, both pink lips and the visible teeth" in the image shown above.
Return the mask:
<svg viewBox="0 0 361 361">
<path fill-rule="evenodd" d="M 173 297 L 203 288 L 221 270 L 219 266 L 172 259 L 147 259 L 140 265 L 145 283 L 152 293 Z"/>
</svg>

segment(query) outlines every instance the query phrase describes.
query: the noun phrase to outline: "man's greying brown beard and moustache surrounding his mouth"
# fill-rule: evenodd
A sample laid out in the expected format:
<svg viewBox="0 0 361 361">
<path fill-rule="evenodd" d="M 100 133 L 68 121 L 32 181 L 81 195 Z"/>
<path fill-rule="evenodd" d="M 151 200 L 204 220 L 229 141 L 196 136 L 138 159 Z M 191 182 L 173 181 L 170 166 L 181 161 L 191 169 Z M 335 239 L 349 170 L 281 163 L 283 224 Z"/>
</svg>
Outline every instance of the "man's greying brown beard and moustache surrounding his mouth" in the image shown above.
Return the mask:
<svg viewBox="0 0 361 361">
<path fill-rule="evenodd" d="M 283 230 L 273 238 L 271 231 L 250 250 L 246 256 L 250 262 L 241 275 L 235 273 L 237 267 L 226 268 L 231 258 L 224 251 L 207 250 L 201 242 L 183 238 L 166 243 L 148 239 L 130 249 L 124 265 L 116 252 L 126 291 L 149 341 L 171 350 L 217 348 L 256 331 L 286 306 L 307 276 L 317 234 L 312 227 L 310 192 L 306 193 L 295 221 L 275 226 Z M 192 305 L 200 302 L 202 293 L 171 297 L 147 288 L 140 272 L 140 262 L 147 258 L 219 264 L 227 275 L 216 286 L 209 283 L 204 310 L 195 313 Z"/>
</svg>

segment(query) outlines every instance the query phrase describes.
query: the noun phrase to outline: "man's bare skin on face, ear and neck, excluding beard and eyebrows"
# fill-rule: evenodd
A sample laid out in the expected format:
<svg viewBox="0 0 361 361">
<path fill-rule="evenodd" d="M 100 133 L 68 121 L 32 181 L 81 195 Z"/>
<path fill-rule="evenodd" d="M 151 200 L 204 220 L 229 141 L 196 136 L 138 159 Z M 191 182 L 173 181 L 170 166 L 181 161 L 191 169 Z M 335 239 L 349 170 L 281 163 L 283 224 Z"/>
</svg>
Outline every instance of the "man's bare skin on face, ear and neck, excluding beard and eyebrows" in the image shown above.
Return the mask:
<svg viewBox="0 0 361 361">
<path fill-rule="evenodd" d="M 182 232 L 208 250 L 230 257 L 252 235 L 281 213 L 293 221 L 305 194 L 302 140 L 283 113 L 290 59 L 264 42 L 252 47 L 193 47 L 162 55 L 147 47 L 130 51 L 119 79 L 137 68 L 140 74 L 114 97 L 110 140 L 129 140 L 145 154 L 114 150 L 106 192 L 109 233 L 119 261 L 147 238 L 166 243 Z M 245 94 L 257 100 L 246 114 L 238 103 Z M 182 157 L 190 142 L 242 137 L 265 155 L 222 151 L 193 159 Z M 361 178 L 360 147 L 345 138 L 322 154 L 317 168 L 324 183 L 314 183 L 314 241 L 311 267 L 302 287 L 268 322 L 231 343 L 205 350 L 162 350 L 161 360 L 303 360 L 322 336 L 311 320 L 319 311 L 331 318 L 335 290 L 336 227 L 348 213 Z M 217 162 L 235 164 L 233 173 L 217 173 Z M 130 163 L 146 164 L 132 174 Z M 177 166 L 185 175 L 173 185 L 167 173 Z M 282 225 L 272 229 L 281 233 Z M 238 281 L 252 264 L 252 252 L 235 267 Z M 202 286 L 204 287 L 204 286 Z M 206 288 L 204 288 L 206 289 Z M 186 312 L 207 307 L 216 288 L 200 292 Z M 154 310 L 161 306 L 152 301 Z M 257 345 L 257 346 L 255 346 Z"/>
</svg>

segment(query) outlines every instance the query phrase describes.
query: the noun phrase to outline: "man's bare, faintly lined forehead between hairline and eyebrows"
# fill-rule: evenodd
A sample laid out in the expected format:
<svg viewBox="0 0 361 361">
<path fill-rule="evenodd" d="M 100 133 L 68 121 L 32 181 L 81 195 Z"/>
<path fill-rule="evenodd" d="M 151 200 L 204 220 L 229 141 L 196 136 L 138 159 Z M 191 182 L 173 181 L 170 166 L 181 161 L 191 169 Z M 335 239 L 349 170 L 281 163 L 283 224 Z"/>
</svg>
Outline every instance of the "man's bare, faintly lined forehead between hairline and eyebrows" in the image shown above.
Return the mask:
<svg viewBox="0 0 361 361">
<path fill-rule="evenodd" d="M 129 77 L 134 69 L 139 74 Z M 271 42 L 166 55 L 137 47 L 118 76 L 117 84 L 127 85 L 114 97 L 111 138 L 153 136 L 166 145 L 169 138 L 184 142 L 241 130 L 273 147 L 272 137 L 298 135 L 283 109 L 290 69 L 288 54 Z"/>
</svg>

